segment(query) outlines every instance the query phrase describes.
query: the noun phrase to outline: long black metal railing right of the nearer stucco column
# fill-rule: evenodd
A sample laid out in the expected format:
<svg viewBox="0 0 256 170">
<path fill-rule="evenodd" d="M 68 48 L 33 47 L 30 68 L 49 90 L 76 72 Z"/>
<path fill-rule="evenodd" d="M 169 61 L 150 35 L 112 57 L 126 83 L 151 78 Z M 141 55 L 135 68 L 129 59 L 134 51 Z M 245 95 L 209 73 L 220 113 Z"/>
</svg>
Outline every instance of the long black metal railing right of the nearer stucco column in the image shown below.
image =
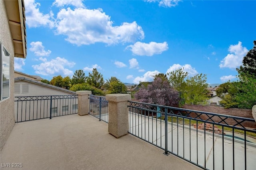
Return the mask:
<svg viewBox="0 0 256 170">
<path fill-rule="evenodd" d="M 254 119 L 133 101 L 128 108 L 129 133 L 162 148 L 166 155 L 202 169 L 255 168 Z"/>
</svg>

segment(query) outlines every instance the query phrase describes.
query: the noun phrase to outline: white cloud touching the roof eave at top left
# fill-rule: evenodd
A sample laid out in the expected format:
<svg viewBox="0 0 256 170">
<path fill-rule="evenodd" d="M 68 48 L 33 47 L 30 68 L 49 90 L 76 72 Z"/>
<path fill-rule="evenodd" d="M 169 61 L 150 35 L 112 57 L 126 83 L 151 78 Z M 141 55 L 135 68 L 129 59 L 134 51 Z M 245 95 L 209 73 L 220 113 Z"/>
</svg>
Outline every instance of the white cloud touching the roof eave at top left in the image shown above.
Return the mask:
<svg viewBox="0 0 256 170">
<path fill-rule="evenodd" d="M 54 18 L 52 12 L 50 12 L 50 14 L 43 14 L 42 12 L 40 12 L 40 3 L 35 2 L 35 0 L 25 0 L 24 2 L 26 6 L 26 24 L 28 25 L 28 27 L 54 27 Z"/>
</svg>

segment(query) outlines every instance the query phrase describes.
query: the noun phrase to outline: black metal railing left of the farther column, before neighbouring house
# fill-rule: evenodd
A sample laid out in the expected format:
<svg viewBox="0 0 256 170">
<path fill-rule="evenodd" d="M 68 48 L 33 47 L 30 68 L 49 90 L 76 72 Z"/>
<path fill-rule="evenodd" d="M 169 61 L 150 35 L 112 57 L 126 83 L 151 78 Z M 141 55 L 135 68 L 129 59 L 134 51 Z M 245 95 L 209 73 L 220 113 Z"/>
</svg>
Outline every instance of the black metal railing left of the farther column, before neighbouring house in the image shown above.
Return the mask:
<svg viewBox="0 0 256 170">
<path fill-rule="evenodd" d="M 78 113 L 78 96 L 15 97 L 15 121 L 25 122 Z"/>
</svg>

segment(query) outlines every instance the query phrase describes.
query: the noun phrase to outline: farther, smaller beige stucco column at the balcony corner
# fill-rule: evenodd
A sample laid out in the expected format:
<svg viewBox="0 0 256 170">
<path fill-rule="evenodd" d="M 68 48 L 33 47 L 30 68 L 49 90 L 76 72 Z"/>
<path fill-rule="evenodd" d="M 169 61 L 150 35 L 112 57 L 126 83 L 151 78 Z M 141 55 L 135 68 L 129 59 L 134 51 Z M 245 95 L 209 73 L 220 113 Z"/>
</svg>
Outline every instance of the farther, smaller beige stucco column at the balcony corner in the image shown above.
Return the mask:
<svg viewBox="0 0 256 170">
<path fill-rule="evenodd" d="M 89 113 L 89 95 L 92 94 L 91 91 L 76 91 L 78 95 L 78 114 L 80 116 L 86 115 Z"/>
</svg>

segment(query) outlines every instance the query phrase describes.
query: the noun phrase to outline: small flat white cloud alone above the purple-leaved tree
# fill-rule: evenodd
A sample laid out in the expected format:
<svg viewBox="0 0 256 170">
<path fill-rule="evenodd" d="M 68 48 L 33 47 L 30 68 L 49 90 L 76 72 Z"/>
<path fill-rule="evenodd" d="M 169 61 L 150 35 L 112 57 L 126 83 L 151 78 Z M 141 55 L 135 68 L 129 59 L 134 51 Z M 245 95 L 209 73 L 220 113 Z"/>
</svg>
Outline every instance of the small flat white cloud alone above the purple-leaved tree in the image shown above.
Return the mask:
<svg viewBox="0 0 256 170">
<path fill-rule="evenodd" d="M 168 44 L 167 42 L 150 42 L 149 44 L 136 42 L 134 45 L 127 46 L 126 49 L 131 50 L 132 54 L 138 56 L 153 56 L 154 54 L 161 54 L 163 51 L 168 50 Z"/>
</svg>

